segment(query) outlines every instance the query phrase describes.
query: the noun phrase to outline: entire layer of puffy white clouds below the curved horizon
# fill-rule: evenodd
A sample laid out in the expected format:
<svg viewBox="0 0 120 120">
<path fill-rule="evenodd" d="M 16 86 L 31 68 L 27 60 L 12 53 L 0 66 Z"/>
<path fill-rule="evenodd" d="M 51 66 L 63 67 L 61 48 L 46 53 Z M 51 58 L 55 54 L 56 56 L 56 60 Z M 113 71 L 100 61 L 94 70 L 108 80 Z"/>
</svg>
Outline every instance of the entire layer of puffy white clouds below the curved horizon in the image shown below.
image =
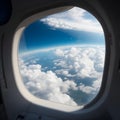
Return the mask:
<svg viewBox="0 0 120 120">
<path fill-rule="evenodd" d="M 70 90 L 82 91 L 88 95 L 97 94 L 104 68 L 103 47 L 56 48 L 52 54 L 56 56 L 52 61 L 54 66 L 47 71 L 43 71 L 42 64 L 35 60 L 29 63 L 23 58 L 19 59 L 23 81 L 32 94 L 41 99 L 72 106 L 78 103 Z M 76 79 L 82 82 L 76 82 Z M 85 84 L 85 79 L 91 80 L 91 84 Z"/>
</svg>

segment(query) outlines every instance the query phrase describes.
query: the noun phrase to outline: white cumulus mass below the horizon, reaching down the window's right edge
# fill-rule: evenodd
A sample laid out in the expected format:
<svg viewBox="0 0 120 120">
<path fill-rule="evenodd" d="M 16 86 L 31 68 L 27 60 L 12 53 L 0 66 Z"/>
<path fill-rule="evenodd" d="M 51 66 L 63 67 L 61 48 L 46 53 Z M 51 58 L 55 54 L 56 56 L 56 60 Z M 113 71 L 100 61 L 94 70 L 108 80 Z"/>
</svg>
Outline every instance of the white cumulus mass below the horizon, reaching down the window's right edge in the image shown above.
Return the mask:
<svg viewBox="0 0 120 120">
<path fill-rule="evenodd" d="M 56 50 L 57 51 L 57 50 Z M 56 51 L 54 54 L 56 54 Z M 70 49 L 59 49 L 64 56 L 59 56 L 54 60 L 54 65 L 61 67 L 56 70 L 57 75 L 63 75 L 65 78 L 72 77 L 94 80 L 92 85 L 80 84 L 79 90 L 85 93 L 96 93 L 101 86 L 101 80 L 104 68 L 105 48 L 104 47 L 72 47 Z M 72 72 L 71 72 L 72 71 Z"/>
</svg>

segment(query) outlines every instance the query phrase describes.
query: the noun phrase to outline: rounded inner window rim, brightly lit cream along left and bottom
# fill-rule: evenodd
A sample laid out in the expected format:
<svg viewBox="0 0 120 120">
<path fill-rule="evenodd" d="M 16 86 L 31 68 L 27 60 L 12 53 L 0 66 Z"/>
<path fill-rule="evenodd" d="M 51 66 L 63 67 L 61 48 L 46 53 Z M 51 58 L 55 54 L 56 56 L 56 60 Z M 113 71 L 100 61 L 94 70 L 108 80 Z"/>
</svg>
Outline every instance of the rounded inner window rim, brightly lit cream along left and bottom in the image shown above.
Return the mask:
<svg viewBox="0 0 120 120">
<path fill-rule="evenodd" d="M 42 100 L 42 99 L 37 98 L 37 97 L 33 96 L 32 94 L 30 94 L 28 92 L 28 90 L 25 88 L 25 85 L 22 82 L 22 78 L 21 78 L 21 75 L 20 75 L 20 72 L 19 72 L 18 60 L 17 60 L 18 59 L 18 56 L 17 56 L 18 53 L 17 53 L 17 51 L 18 51 L 18 44 L 19 44 L 20 36 L 21 36 L 23 30 L 26 28 L 27 25 L 29 25 L 33 21 L 37 20 L 38 18 L 40 19 L 40 18 L 45 17 L 47 15 L 50 15 L 50 14 L 53 14 L 53 13 L 57 13 L 57 12 L 61 12 L 63 10 L 66 10 L 66 9 L 69 9 L 69 8 L 72 8 L 72 7 L 73 6 L 58 7 L 58 8 L 55 8 L 55 9 L 53 8 L 53 9 L 50 9 L 50 10 L 46 10 L 45 12 L 37 13 L 37 14 L 32 15 L 31 17 L 28 17 L 25 20 L 23 20 L 23 22 L 20 23 L 20 25 L 18 26 L 18 28 L 17 28 L 17 30 L 15 32 L 14 39 L 13 39 L 13 49 L 12 49 L 13 73 L 14 73 L 16 85 L 17 85 L 17 87 L 18 87 L 21 95 L 26 100 L 28 100 L 31 103 L 34 103 L 34 104 L 37 104 L 37 105 L 40 105 L 40 106 L 43 106 L 43 107 L 47 107 L 47 108 L 52 108 L 52 109 L 56 109 L 56 110 L 65 111 L 65 112 L 73 112 L 73 111 L 83 110 L 84 107 L 85 108 L 89 108 L 89 107 L 86 107 L 87 105 L 85 105 L 83 107 L 83 109 L 81 109 L 81 107 L 79 107 L 79 106 L 78 107 L 72 107 L 72 106 L 67 106 L 67 105 L 63 105 L 63 104 L 59 104 L 59 103 L 53 103 L 53 102 L 50 102 L 50 101 L 47 101 L 47 100 Z M 100 21 L 99 21 L 99 23 L 100 23 Z M 107 47 L 106 44 L 105 44 L 105 47 Z M 107 54 L 107 51 L 106 51 L 106 54 Z M 106 62 L 106 54 L 105 54 L 105 62 Z M 102 88 L 102 85 L 101 85 L 101 88 Z M 100 91 L 101 91 L 101 88 L 100 88 Z M 99 101 L 99 99 L 97 99 L 98 96 L 99 96 L 99 93 L 98 93 L 98 95 L 95 98 L 96 102 Z M 33 101 L 35 101 L 35 102 L 33 102 Z M 91 101 L 89 103 L 89 105 L 92 102 L 93 101 Z M 94 102 L 94 103 L 96 103 L 96 102 Z"/>
</svg>

